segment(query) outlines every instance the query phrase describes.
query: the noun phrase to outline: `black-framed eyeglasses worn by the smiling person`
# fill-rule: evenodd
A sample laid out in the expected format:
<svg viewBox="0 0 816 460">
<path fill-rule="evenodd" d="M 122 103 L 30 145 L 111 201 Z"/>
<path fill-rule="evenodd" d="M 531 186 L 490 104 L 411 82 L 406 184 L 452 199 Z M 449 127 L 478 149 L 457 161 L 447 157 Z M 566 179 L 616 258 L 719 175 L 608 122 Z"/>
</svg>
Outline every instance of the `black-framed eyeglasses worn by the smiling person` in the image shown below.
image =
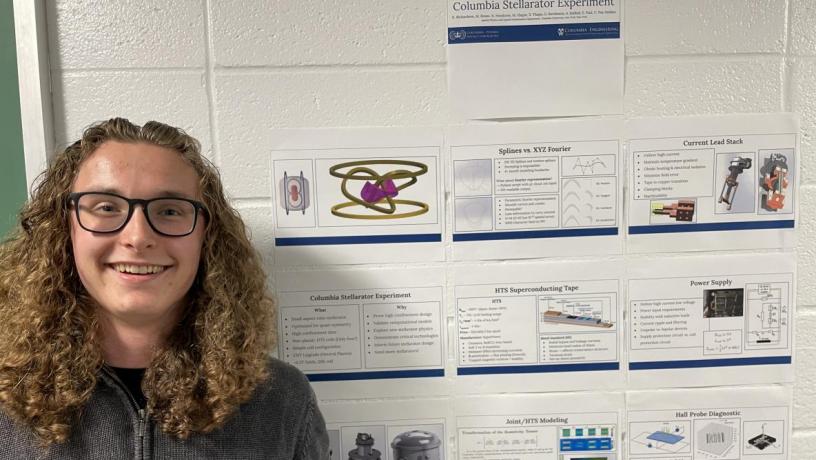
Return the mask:
<svg viewBox="0 0 816 460">
<path fill-rule="evenodd" d="M 198 213 L 204 204 L 177 197 L 158 197 L 149 200 L 125 198 L 115 193 L 78 192 L 68 195 L 76 212 L 77 222 L 93 233 L 115 233 L 123 229 L 133 210 L 140 205 L 150 228 L 159 235 L 187 236 L 195 230 Z"/>
</svg>

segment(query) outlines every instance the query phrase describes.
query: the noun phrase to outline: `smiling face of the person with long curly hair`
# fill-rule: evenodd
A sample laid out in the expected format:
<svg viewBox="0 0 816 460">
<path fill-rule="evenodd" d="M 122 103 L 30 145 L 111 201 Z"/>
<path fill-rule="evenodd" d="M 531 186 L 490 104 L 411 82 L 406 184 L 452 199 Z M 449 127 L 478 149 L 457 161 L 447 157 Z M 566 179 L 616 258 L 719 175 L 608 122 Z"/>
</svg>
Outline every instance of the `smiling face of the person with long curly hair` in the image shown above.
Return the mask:
<svg viewBox="0 0 816 460">
<path fill-rule="evenodd" d="M 79 167 L 72 192 L 110 192 L 127 198 L 199 198 L 198 175 L 178 152 L 143 143 L 107 141 Z M 204 241 L 199 213 L 193 233 L 156 233 L 136 206 L 116 233 L 84 230 L 71 213 L 71 244 L 79 277 L 107 320 L 167 327 L 183 308 Z"/>
</svg>

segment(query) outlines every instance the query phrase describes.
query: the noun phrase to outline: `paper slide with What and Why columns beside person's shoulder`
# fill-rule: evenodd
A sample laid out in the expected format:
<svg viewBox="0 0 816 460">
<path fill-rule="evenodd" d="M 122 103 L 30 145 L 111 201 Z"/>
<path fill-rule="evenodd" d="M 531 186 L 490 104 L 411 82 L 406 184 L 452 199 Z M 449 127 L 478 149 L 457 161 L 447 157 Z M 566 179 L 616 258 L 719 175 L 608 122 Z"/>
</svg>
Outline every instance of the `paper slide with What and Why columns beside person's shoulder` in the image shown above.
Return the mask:
<svg viewBox="0 0 816 460">
<path fill-rule="evenodd" d="M 446 391 L 441 268 L 277 272 L 278 353 L 321 398 Z"/>
</svg>

